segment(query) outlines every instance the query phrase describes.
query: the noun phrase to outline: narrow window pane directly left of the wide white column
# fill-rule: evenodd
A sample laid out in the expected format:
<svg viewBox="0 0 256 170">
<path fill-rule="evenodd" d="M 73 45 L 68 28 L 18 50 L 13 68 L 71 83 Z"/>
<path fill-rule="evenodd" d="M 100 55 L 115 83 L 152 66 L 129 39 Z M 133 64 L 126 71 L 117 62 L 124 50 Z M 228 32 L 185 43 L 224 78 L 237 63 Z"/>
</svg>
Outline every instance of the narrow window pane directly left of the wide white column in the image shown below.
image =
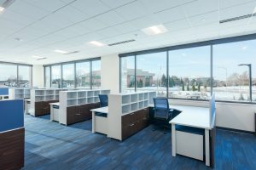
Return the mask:
<svg viewBox="0 0 256 170">
<path fill-rule="evenodd" d="M 101 60 L 91 62 L 92 88 L 101 88 Z"/>
</svg>

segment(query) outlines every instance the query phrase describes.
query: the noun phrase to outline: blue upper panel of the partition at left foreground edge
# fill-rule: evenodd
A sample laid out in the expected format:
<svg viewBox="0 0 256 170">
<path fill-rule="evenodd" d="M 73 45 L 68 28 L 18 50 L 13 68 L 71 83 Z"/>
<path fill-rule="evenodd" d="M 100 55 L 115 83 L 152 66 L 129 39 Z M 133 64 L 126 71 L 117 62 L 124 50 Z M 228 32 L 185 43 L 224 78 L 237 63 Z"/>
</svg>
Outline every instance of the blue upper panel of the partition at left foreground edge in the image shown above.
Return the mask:
<svg viewBox="0 0 256 170">
<path fill-rule="evenodd" d="M 0 133 L 24 127 L 23 99 L 0 101 Z"/>
</svg>

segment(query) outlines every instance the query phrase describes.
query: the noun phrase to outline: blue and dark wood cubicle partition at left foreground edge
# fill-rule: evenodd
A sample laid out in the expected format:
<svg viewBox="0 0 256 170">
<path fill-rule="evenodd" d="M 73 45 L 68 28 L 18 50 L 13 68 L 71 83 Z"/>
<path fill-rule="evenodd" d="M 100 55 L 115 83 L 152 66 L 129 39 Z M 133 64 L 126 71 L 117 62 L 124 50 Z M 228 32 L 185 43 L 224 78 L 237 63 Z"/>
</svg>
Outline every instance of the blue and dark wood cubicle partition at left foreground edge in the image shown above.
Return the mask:
<svg viewBox="0 0 256 170">
<path fill-rule="evenodd" d="M 0 101 L 0 169 L 24 167 L 23 99 Z"/>
</svg>

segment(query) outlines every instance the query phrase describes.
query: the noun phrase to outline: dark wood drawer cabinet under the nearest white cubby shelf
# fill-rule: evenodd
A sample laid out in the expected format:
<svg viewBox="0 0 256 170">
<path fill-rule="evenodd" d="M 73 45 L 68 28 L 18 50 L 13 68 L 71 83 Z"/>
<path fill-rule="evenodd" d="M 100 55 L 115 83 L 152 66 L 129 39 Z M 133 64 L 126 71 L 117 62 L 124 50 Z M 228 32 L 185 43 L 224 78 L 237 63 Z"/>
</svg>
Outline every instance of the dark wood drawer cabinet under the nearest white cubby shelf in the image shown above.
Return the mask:
<svg viewBox="0 0 256 170">
<path fill-rule="evenodd" d="M 127 139 L 137 133 L 149 123 L 149 108 L 132 112 L 122 116 L 122 139 Z"/>
</svg>

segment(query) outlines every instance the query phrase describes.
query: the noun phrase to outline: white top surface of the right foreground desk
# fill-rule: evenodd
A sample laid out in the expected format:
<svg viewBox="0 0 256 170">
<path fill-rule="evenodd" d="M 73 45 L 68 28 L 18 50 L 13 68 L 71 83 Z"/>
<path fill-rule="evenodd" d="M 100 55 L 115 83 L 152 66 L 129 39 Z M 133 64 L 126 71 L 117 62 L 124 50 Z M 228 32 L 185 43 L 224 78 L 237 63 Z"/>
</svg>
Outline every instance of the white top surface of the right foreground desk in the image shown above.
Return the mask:
<svg viewBox="0 0 256 170">
<path fill-rule="evenodd" d="M 172 105 L 173 109 L 182 111 L 169 123 L 211 129 L 210 111 L 207 107 Z"/>
</svg>

